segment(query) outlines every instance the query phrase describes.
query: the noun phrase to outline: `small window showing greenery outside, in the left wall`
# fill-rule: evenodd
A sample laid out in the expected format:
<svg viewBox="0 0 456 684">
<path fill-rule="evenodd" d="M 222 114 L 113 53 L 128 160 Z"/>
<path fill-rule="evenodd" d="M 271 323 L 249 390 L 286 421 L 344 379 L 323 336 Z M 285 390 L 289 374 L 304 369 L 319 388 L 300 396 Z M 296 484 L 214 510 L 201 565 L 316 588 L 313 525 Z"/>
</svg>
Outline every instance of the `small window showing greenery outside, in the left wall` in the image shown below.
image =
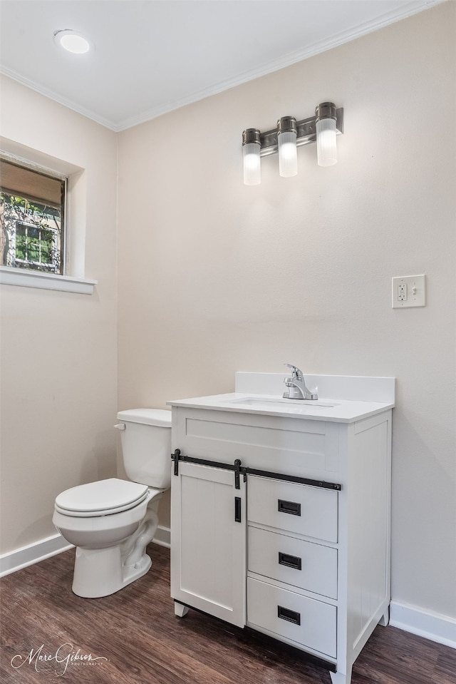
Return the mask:
<svg viewBox="0 0 456 684">
<path fill-rule="evenodd" d="M 63 275 L 66 178 L 0 158 L 0 265 Z"/>
</svg>

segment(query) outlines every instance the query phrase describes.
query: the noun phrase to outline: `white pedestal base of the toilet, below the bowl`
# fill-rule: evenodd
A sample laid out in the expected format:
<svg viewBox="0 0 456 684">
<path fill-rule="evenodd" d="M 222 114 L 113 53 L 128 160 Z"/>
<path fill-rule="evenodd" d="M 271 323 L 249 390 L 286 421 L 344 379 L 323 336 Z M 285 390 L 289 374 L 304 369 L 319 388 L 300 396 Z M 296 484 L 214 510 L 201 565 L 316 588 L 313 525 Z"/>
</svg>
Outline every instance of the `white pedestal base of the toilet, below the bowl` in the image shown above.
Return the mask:
<svg viewBox="0 0 456 684">
<path fill-rule="evenodd" d="M 160 498 L 161 493 L 153 497 L 142 524 L 123 543 L 108 548 L 76 547 L 72 586 L 76 596 L 110 596 L 149 571 L 152 561 L 145 553 L 145 548 L 157 530 Z"/>
</svg>

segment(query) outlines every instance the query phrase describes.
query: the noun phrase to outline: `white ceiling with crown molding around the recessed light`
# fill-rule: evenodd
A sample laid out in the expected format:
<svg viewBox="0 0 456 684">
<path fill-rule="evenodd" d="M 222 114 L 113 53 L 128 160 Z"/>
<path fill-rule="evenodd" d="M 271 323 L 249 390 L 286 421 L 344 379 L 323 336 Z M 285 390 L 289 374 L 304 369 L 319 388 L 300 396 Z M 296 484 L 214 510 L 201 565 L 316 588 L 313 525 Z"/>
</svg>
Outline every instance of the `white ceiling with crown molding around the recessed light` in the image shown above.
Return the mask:
<svg viewBox="0 0 456 684">
<path fill-rule="evenodd" d="M 1 71 L 114 131 L 443 0 L 1 0 Z M 65 53 L 60 29 L 95 51 Z"/>
</svg>

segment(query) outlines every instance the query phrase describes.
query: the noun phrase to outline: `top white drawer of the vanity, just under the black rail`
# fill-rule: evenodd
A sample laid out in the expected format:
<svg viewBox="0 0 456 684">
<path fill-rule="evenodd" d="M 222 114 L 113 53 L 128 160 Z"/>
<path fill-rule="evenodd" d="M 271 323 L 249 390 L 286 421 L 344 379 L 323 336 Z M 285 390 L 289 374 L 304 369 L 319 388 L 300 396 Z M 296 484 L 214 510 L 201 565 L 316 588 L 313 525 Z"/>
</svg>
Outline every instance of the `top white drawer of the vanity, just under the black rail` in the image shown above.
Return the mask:
<svg viewBox="0 0 456 684">
<path fill-rule="evenodd" d="M 249 475 L 247 519 L 336 542 L 338 492 Z"/>
</svg>

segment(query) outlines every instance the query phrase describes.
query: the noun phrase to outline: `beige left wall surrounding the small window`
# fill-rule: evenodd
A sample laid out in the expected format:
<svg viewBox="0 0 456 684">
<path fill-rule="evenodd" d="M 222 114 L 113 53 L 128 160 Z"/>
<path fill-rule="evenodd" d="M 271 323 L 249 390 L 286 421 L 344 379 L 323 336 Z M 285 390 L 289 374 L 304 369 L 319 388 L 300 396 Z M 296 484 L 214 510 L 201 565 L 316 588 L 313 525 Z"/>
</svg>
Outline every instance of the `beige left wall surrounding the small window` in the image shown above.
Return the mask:
<svg viewBox="0 0 456 684">
<path fill-rule="evenodd" d="M 60 491 L 116 472 L 117 143 L 115 133 L 9 78 L 1 80 L 1 134 L 23 156 L 83 169 L 76 214 L 85 249 L 80 235 L 75 269 L 85 257 L 86 277 L 98 280 L 93 295 L 0 286 L 7 553 L 56 534 Z"/>
</svg>

